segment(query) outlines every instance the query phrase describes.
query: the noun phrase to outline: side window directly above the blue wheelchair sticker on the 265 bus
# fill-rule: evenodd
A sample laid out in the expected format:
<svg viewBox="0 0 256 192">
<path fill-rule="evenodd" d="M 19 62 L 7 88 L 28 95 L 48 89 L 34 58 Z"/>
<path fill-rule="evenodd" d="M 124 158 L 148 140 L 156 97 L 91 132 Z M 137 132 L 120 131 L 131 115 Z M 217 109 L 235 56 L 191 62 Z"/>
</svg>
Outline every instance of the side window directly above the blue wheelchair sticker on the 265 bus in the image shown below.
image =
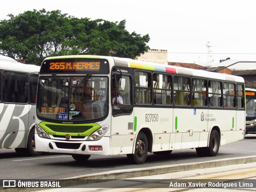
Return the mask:
<svg viewBox="0 0 256 192">
<path fill-rule="evenodd" d="M 192 80 L 192 105 L 206 106 L 206 80 L 196 79 Z"/>
</svg>

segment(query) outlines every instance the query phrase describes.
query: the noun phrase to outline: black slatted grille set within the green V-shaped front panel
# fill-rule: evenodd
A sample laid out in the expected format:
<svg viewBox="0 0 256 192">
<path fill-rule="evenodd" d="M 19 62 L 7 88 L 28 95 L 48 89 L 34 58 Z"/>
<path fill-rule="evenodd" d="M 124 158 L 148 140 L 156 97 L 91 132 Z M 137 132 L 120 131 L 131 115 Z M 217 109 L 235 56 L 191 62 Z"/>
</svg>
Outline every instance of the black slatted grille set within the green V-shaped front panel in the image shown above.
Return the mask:
<svg viewBox="0 0 256 192">
<path fill-rule="evenodd" d="M 90 128 L 92 128 L 92 126 L 76 126 L 76 125 L 65 126 L 65 125 L 46 124 L 46 126 L 55 132 L 68 132 L 68 133 L 83 133 L 89 130 Z"/>
</svg>

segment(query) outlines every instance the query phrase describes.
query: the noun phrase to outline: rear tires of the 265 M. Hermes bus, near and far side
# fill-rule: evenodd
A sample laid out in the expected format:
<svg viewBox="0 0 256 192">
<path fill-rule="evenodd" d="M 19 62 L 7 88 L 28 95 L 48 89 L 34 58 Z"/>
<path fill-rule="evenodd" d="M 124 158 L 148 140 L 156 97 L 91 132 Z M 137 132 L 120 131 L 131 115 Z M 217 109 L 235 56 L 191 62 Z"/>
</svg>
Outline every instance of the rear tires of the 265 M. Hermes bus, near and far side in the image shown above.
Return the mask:
<svg viewBox="0 0 256 192">
<path fill-rule="evenodd" d="M 218 131 L 212 130 L 209 140 L 209 147 L 196 148 L 198 156 L 216 156 L 220 148 L 220 135 Z"/>
</svg>

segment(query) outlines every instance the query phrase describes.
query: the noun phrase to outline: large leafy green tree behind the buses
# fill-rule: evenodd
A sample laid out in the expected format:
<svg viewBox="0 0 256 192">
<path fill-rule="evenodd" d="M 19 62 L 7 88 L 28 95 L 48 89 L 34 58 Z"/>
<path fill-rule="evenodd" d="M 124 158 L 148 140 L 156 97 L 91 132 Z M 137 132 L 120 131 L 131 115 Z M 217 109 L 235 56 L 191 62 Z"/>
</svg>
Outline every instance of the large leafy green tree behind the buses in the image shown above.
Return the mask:
<svg viewBox="0 0 256 192">
<path fill-rule="evenodd" d="M 75 18 L 60 10 L 26 11 L 0 21 L 0 50 L 6 56 L 40 64 L 48 56 L 92 54 L 136 58 L 147 52 L 148 34 L 125 29 L 126 21 Z"/>
</svg>

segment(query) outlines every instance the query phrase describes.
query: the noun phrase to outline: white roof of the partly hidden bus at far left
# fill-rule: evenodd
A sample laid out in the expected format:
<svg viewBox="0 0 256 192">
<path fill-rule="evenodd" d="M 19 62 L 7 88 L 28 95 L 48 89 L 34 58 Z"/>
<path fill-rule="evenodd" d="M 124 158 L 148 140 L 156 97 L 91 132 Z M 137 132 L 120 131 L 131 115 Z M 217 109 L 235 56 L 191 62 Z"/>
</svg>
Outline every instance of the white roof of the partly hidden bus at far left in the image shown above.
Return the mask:
<svg viewBox="0 0 256 192">
<path fill-rule="evenodd" d="M 39 72 L 40 66 L 23 64 L 10 57 L 0 56 L 0 69 L 32 73 Z"/>
</svg>

